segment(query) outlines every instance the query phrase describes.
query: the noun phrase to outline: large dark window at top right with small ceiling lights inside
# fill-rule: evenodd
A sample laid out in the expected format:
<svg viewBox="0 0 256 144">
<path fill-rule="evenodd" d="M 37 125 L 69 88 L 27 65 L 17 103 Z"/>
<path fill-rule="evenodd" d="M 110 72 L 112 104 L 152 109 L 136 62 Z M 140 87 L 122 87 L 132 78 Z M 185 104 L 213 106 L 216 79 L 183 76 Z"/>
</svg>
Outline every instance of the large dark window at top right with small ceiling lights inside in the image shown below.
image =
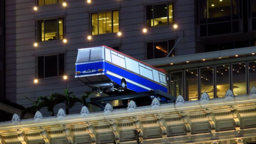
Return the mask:
<svg viewBox="0 0 256 144">
<path fill-rule="evenodd" d="M 197 0 L 198 35 L 213 36 L 239 32 L 239 0 Z"/>
</svg>

